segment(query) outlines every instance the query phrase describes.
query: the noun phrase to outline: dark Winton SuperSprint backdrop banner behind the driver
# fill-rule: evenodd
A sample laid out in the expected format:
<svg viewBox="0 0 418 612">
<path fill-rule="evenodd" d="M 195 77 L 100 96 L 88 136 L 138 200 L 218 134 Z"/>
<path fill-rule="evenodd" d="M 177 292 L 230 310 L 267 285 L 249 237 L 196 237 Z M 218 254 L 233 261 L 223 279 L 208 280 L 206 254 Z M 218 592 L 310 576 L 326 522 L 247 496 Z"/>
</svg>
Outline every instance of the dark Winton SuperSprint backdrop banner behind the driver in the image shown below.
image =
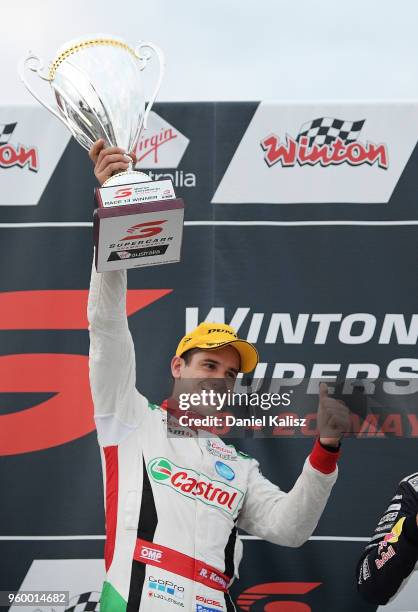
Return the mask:
<svg viewBox="0 0 418 612">
<path fill-rule="evenodd" d="M 167 396 L 178 340 L 204 320 L 256 344 L 258 377 L 418 376 L 417 137 L 413 103 L 156 104 L 139 166 L 173 181 L 186 221 L 181 263 L 128 273 L 142 393 Z M 98 610 L 93 167 L 46 111 L 3 107 L 0 186 L 0 590 L 68 590 L 69 609 Z M 410 425 L 382 417 L 344 440 L 338 481 L 302 548 L 241 534 L 237 610 L 418 609 L 415 576 L 385 608 L 355 586 L 398 481 L 418 469 L 418 420 Z M 314 439 L 312 429 L 237 445 L 288 490 Z"/>
</svg>

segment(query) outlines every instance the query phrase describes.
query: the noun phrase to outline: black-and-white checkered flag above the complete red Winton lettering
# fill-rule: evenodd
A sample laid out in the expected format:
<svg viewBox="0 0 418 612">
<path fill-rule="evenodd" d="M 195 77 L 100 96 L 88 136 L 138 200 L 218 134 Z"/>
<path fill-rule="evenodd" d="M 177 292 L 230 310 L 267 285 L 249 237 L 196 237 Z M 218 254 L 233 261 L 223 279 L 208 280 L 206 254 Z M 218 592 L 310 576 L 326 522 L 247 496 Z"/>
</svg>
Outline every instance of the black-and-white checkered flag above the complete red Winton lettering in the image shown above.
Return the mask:
<svg viewBox="0 0 418 612">
<path fill-rule="evenodd" d="M 300 142 L 302 136 L 307 136 L 309 139 L 308 145 L 311 147 L 313 144 L 329 145 L 337 138 L 341 138 L 344 144 L 347 145 L 358 139 L 364 122 L 365 119 L 361 121 L 343 121 L 342 119 L 333 119 L 332 117 L 319 117 L 319 119 L 304 123 L 296 140 Z"/>
</svg>

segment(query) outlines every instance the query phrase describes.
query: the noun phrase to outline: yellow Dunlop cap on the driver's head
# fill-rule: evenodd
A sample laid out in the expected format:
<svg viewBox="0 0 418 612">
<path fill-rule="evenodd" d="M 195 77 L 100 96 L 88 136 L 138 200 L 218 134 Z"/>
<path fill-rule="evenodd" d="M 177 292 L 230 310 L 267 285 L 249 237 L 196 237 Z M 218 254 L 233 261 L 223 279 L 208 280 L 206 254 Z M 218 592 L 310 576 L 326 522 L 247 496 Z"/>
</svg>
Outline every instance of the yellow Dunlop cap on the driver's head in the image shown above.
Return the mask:
<svg viewBox="0 0 418 612">
<path fill-rule="evenodd" d="M 225 323 L 201 323 L 193 331 L 184 336 L 179 342 L 176 355 L 192 348 L 204 350 L 218 349 L 221 346 L 231 345 L 241 357 L 240 372 L 251 372 L 258 363 L 258 352 L 255 346 L 246 340 L 240 340 L 233 327 Z"/>
</svg>

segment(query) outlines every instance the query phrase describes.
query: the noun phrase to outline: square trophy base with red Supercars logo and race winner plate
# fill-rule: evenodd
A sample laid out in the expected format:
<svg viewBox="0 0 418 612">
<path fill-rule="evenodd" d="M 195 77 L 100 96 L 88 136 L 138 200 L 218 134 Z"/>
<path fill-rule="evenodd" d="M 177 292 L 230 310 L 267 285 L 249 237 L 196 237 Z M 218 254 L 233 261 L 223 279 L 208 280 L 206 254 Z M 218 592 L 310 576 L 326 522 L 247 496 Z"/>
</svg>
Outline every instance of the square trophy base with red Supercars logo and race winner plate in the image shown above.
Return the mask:
<svg viewBox="0 0 418 612">
<path fill-rule="evenodd" d="M 120 172 L 96 189 L 95 199 L 98 272 L 180 261 L 184 202 L 176 198 L 171 180 Z"/>
</svg>

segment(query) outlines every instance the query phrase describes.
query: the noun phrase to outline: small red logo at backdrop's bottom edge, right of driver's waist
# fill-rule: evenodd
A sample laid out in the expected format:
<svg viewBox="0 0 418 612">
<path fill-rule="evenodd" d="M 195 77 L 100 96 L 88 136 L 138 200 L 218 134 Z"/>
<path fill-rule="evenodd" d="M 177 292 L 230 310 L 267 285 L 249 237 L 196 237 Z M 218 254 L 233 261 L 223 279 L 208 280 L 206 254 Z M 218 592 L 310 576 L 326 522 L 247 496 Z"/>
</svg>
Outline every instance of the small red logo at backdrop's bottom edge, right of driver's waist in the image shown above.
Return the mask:
<svg viewBox="0 0 418 612">
<path fill-rule="evenodd" d="M 286 612 L 311 612 L 313 608 L 304 597 L 321 585 L 320 582 L 266 582 L 245 589 L 237 599 L 240 610 L 248 612 L 257 603 L 257 610 L 286 610 Z M 297 599 L 295 595 L 299 596 Z M 306 603 L 305 603 L 306 602 Z"/>
</svg>

